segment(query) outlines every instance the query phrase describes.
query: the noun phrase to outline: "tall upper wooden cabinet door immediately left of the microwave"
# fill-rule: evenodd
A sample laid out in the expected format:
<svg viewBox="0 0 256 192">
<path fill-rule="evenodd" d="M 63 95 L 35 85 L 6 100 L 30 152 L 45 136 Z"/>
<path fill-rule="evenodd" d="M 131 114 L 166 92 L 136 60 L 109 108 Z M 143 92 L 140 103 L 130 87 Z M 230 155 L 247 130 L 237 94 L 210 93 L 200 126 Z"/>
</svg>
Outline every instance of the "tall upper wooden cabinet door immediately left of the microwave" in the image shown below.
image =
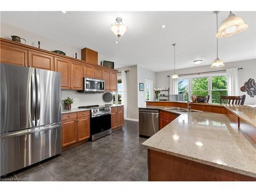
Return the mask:
<svg viewBox="0 0 256 192">
<path fill-rule="evenodd" d="M 83 90 L 83 64 L 71 61 L 70 86 L 72 90 Z"/>
</svg>

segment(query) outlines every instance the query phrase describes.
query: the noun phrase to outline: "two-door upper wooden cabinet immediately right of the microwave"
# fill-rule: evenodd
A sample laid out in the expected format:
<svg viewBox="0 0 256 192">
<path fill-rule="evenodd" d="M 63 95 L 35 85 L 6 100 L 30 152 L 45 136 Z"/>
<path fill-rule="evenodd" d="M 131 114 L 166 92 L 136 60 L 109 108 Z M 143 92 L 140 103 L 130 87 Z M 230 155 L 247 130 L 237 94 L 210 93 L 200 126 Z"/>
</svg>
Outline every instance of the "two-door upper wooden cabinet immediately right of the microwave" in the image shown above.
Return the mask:
<svg viewBox="0 0 256 192">
<path fill-rule="evenodd" d="M 117 91 L 117 73 L 104 69 L 105 91 Z"/>
</svg>

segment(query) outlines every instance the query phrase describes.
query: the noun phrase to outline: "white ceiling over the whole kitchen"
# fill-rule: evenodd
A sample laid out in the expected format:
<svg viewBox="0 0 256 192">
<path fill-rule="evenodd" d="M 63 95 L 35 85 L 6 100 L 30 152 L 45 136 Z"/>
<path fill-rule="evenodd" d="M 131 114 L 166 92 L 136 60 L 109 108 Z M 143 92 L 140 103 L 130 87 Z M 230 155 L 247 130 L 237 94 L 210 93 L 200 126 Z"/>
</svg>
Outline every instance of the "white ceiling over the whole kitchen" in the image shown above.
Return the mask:
<svg viewBox="0 0 256 192">
<path fill-rule="evenodd" d="M 219 39 L 219 58 L 224 62 L 256 58 L 256 12 L 234 13 L 249 27 Z M 227 15 L 220 12 L 219 25 Z M 110 30 L 116 17 L 129 26 L 120 39 Z M 1 22 L 79 49 L 96 50 L 104 60 L 113 60 L 116 68 L 140 65 L 155 72 L 172 70 L 173 42 L 177 69 L 195 66 L 195 59 L 203 59 L 200 65 L 210 65 L 216 58 L 216 15 L 212 12 L 1 12 Z"/>
</svg>

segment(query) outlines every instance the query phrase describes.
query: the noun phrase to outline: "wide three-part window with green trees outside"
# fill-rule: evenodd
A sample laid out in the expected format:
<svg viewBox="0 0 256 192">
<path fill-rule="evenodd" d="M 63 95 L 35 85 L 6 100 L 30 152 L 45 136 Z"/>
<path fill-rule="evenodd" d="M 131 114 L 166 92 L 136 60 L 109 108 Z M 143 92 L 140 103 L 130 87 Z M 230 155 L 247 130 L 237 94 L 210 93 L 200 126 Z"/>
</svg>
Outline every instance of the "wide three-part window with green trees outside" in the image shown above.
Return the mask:
<svg viewBox="0 0 256 192">
<path fill-rule="evenodd" d="M 209 102 L 219 103 L 222 95 L 227 95 L 227 76 L 207 76 L 178 79 L 178 93 L 188 93 L 189 97 L 193 94 L 198 96 L 210 95 Z M 184 95 L 187 101 L 187 94 Z"/>
</svg>

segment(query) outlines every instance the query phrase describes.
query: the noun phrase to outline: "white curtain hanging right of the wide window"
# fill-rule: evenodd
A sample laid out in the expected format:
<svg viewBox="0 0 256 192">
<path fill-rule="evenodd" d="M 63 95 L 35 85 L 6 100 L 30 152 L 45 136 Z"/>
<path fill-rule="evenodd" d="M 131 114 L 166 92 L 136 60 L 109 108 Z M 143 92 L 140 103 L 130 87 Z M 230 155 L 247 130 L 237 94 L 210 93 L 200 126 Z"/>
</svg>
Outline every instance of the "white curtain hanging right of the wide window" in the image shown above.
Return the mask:
<svg viewBox="0 0 256 192">
<path fill-rule="evenodd" d="M 239 95 L 238 68 L 227 69 L 227 94 L 230 96 Z"/>
</svg>

